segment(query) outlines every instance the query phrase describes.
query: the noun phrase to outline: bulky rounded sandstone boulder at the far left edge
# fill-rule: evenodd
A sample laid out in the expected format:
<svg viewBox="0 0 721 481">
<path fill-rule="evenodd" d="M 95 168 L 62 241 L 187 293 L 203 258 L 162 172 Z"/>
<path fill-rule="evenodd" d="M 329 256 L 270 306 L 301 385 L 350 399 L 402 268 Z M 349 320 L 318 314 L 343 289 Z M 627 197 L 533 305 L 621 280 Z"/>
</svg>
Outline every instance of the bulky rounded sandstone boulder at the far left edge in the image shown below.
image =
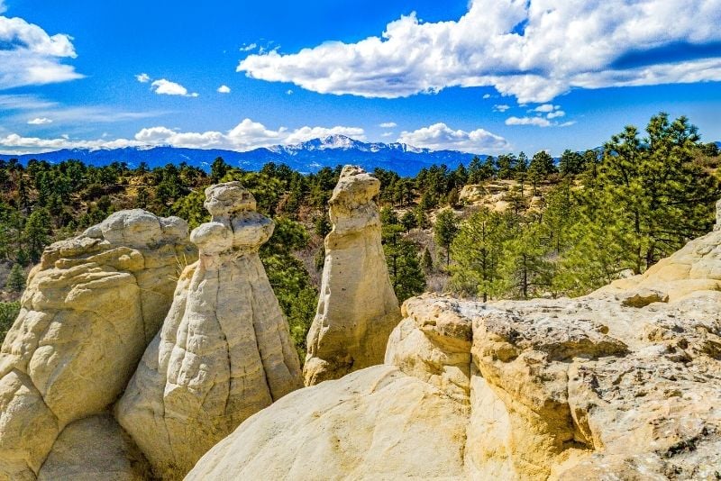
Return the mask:
<svg viewBox="0 0 721 481">
<path fill-rule="evenodd" d="M 123 392 L 194 252 L 185 221 L 141 210 L 45 250 L 0 351 L 0 479 L 34 479 L 51 449 L 70 456 L 82 420 Z"/>
</svg>

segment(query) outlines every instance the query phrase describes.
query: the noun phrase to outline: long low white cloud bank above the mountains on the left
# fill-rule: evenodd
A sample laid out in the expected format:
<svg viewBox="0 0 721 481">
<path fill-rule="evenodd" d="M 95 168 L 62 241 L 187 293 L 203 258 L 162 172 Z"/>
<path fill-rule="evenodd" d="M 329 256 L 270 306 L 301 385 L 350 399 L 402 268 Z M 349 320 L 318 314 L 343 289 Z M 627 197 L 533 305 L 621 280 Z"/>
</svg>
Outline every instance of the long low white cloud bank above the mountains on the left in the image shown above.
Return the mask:
<svg viewBox="0 0 721 481">
<path fill-rule="evenodd" d="M 0 137 L 0 150 L 8 154 L 34 153 L 43 150 L 59 149 L 117 149 L 120 147 L 140 147 L 146 145 L 172 145 L 189 149 L 228 149 L 253 150 L 273 145 L 296 144 L 327 135 L 347 135 L 358 140 L 365 139 L 365 132 L 359 127 L 301 127 L 288 130 L 280 127 L 272 130 L 262 123 L 251 119 L 244 119 L 241 123 L 227 132 L 180 132 L 176 129 L 157 126 L 141 129 L 132 139 L 116 139 L 109 141 L 99 139 L 95 141 L 71 140 L 60 137 L 57 139 L 41 139 L 23 137 L 11 133 L 5 138 Z"/>
</svg>

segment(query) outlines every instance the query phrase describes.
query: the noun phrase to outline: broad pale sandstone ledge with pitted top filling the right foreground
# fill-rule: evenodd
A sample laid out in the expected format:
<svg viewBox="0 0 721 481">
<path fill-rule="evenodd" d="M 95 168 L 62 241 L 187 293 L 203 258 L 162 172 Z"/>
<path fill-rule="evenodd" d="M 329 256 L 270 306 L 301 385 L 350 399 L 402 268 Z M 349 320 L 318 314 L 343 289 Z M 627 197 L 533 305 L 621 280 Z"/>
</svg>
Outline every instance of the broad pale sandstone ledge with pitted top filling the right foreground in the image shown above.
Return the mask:
<svg viewBox="0 0 721 481">
<path fill-rule="evenodd" d="M 716 231 L 661 266 L 713 279 L 719 245 Z M 692 286 L 410 299 L 386 365 L 252 416 L 188 479 L 716 479 L 721 292 Z"/>
</svg>

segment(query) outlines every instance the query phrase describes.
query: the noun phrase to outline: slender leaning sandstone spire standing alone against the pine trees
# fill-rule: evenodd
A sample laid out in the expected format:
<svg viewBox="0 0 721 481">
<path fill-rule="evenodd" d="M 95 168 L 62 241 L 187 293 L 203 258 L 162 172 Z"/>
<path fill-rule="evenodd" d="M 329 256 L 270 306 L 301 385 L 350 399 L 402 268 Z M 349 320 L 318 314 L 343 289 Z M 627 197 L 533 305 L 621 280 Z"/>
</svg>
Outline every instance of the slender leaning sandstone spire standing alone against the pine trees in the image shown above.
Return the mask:
<svg viewBox="0 0 721 481">
<path fill-rule="evenodd" d="M 400 321 L 373 202 L 379 190 L 377 178 L 351 166 L 333 190 L 333 231 L 325 239 L 318 311 L 307 337 L 306 386 L 383 362 L 388 335 Z"/>
</svg>

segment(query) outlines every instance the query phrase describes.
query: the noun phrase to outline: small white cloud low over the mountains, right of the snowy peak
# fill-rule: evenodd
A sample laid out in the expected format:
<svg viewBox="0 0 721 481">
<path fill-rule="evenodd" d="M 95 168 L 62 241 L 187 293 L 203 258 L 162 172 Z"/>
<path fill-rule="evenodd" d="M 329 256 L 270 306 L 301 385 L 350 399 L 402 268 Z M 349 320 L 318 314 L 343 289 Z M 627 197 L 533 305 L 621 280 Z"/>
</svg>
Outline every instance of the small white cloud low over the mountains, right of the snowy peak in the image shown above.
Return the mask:
<svg viewBox="0 0 721 481">
<path fill-rule="evenodd" d="M 435 123 L 414 132 L 401 132 L 398 141 L 431 150 L 461 150 L 474 153 L 507 150 L 510 147 L 506 139 L 483 129 L 471 132 L 454 131 L 445 123 Z"/>
</svg>

